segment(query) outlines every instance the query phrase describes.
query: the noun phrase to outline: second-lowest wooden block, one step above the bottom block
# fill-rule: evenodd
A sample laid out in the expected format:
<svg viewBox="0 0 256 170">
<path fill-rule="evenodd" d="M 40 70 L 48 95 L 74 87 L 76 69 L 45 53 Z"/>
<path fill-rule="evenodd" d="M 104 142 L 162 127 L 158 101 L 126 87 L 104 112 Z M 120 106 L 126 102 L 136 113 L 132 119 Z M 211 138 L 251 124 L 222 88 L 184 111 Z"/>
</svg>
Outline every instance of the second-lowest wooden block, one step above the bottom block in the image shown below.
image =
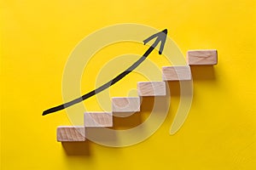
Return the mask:
<svg viewBox="0 0 256 170">
<path fill-rule="evenodd" d="M 85 127 L 113 127 L 112 112 L 85 112 Z"/>
</svg>

